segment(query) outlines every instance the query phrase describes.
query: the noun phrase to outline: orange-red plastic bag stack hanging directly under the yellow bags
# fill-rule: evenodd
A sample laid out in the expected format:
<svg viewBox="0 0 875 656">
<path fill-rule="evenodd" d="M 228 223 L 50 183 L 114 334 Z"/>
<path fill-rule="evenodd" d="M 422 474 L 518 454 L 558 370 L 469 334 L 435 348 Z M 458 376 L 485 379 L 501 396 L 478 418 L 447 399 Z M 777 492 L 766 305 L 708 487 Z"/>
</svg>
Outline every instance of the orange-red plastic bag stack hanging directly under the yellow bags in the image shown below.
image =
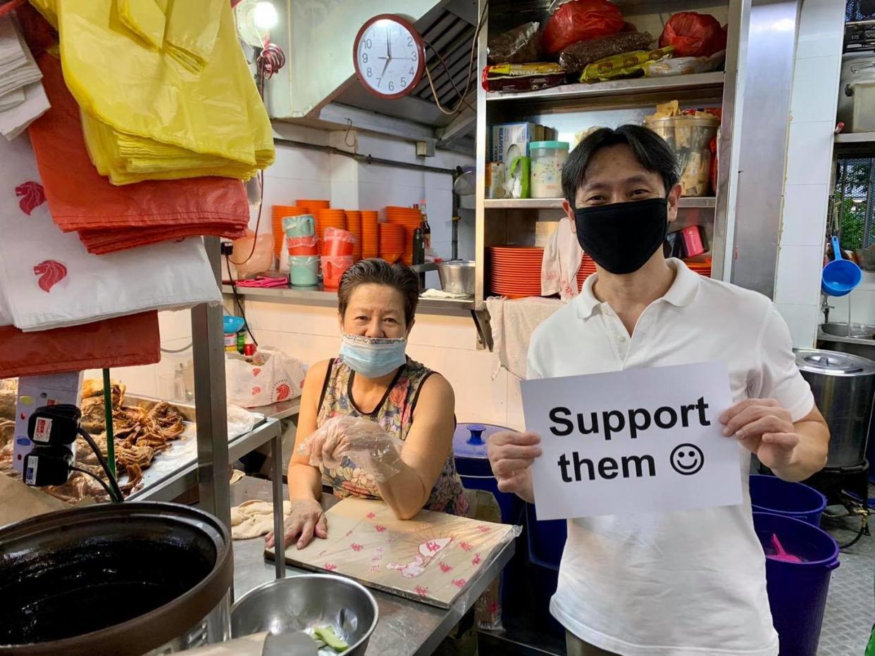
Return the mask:
<svg viewBox="0 0 875 656">
<path fill-rule="evenodd" d="M 186 178 L 114 186 L 88 160 L 80 110 L 60 63 L 39 58 L 52 108 L 29 130 L 52 219 L 78 232 L 89 253 L 106 254 L 196 234 L 239 237 L 249 220 L 239 180 Z"/>
</svg>

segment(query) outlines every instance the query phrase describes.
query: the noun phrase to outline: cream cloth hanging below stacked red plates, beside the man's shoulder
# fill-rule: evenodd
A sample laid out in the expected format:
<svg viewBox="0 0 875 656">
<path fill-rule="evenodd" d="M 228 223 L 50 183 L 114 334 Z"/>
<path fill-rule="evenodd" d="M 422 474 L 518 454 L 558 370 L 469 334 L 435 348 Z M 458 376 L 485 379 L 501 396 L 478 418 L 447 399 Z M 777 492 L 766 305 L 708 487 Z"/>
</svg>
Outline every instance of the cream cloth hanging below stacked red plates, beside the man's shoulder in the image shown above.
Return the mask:
<svg viewBox="0 0 875 656">
<path fill-rule="evenodd" d="M 489 325 L 493 334 L 493 353 L 498 359 L 493 378 L 501 367 L 519 379 L 526 377 L 528 342 L 541 322 L 562 307 L 558 298 L 528 297 L 510 300 L 486 299 Z"/>
</svg>

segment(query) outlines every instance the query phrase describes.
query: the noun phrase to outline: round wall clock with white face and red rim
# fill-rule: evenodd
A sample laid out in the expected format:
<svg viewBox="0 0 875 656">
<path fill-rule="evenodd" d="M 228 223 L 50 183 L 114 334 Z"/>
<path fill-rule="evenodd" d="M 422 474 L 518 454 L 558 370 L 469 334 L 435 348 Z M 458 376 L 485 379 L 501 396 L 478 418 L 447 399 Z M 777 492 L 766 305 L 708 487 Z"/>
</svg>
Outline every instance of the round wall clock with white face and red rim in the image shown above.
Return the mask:
<svg viewBox="0 0 875 656">
<path fill-rule="evenodd" d="M 355 72 L 365 88 L 382 98 L 409 94 L 423 76 L 424 49 L 416 28 L 382 14 L 362 25 L 353 46 Z"/>
</svg>

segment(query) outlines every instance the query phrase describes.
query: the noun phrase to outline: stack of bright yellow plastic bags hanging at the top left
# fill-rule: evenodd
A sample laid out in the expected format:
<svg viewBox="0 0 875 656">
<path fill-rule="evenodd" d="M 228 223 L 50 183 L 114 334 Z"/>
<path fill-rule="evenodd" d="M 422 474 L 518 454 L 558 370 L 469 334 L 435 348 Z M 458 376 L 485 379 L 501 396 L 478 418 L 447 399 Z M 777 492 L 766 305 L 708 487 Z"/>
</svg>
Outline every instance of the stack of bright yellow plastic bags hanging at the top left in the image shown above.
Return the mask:
<svg viewBox="0 0 875 656">
<path fill-rule="evenodd" d="M 247 180 L 272 164 L 270 122 L 227 0 L 32 4 L 59 31 L 88 155 L 114 185 Z"/>
</svg>

